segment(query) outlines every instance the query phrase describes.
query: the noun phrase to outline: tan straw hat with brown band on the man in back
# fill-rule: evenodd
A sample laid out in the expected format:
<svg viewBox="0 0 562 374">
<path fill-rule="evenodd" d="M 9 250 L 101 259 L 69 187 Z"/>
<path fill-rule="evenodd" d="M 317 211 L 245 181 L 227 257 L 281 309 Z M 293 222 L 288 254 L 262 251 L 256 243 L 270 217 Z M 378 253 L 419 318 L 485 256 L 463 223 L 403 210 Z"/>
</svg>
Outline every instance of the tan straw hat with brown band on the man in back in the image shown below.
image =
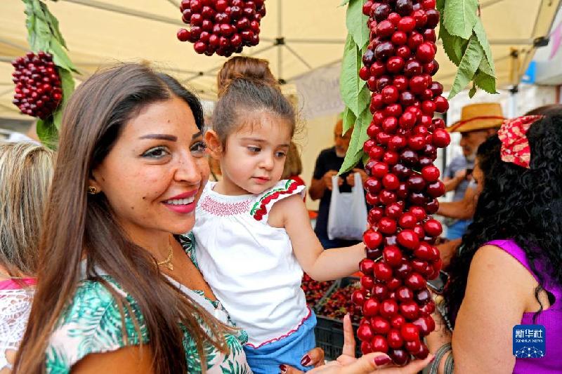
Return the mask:
<svg viewBox="0 0 562 374">
<path fill-rule="evenodd" d="M 469 131 L 499 128 L 505 117 L 502 106 L 497 102 L 483 102 L 462 107 L 461 119 L 447 127 L 450 133 L 468 133 Z"/>
</svg>

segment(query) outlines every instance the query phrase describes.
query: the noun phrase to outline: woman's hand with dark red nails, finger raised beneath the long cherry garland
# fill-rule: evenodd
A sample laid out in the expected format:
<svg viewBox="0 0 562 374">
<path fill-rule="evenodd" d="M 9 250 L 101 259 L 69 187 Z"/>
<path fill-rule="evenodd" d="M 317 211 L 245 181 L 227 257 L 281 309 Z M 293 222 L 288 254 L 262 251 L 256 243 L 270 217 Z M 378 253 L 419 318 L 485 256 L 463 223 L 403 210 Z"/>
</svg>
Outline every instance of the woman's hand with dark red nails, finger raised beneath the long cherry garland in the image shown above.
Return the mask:
<svg viewBox="0 0 562 374">
<path fill-rule="evenodd" d="M 311 351 L 312 352 L 312 351 Z M 386 354 L 377 352 L 361 356 L 355 359 L 355 338 L 353 337 L 353 326 L 349 314 L 344 316 L 344 349 L 341 356 L 336 361 L 317 366 L 313 370 L 308 371 L 310 374 L 415 374 L 419 370 L 425 368 L 433 359 L 433 355 L 427 356 L 424 360 L 415 360 L 406 366 L 396 367 L 388 366 L 391 358 Z M 303 373 L 301 370 L 292 368 L 291 366 L 281 365 L 282 374 Z"/>
</svg>

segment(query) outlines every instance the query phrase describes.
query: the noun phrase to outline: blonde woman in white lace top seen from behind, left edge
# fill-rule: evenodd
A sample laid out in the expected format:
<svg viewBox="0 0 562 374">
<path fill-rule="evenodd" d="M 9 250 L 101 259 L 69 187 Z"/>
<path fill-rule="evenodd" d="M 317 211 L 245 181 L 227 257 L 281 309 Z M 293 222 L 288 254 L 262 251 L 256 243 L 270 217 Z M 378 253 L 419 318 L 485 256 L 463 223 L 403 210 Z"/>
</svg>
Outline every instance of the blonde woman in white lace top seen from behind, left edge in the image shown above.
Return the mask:
<svg viewBox="0 0 562 374">
<path fill-rule="evenodd" d="M 32 142 L 0 144 L 0 373 L 11 363 L 30 314 L 39 231 L 54 153 Z"/>
</svg>

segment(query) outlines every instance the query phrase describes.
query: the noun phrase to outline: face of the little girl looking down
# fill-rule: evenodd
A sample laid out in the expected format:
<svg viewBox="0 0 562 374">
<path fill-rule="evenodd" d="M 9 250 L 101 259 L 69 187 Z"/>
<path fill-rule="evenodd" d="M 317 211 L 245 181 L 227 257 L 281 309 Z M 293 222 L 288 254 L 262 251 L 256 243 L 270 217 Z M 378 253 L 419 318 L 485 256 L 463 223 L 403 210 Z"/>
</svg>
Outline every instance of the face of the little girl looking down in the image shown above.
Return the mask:
<svg viewBox="0 0 562 374">
<path fill-rule="evenodd" d="M 228 135 L 221 155 L 226 194 L 260 194 L 279 182 L 285 166 L 292 124 L 270 113 L 254 114 L 245 121 Z"/>
</svg>

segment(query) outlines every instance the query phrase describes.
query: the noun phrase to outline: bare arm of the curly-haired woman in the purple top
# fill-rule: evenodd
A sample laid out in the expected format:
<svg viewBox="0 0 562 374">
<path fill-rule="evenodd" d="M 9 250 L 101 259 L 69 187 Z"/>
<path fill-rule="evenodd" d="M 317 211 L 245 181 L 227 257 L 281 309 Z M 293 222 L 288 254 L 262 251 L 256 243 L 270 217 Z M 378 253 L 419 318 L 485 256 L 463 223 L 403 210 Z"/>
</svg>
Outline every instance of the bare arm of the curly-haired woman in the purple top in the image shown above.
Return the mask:
<svg viewBox="0 0 562 374">
<path fill-rule="evenodd" d="M 536 285 L 528 270 L 509 253 L 495 246 L 478 249 L 452 333 L 455 373 L 513 372 L 512 331 L 521 323 L 523 312 L 532 310 L 529 305 Z M 445 342 L 443 336 L 439 331 L 430 334 L 430 352 L 435 353 Z"/>
</svg>

